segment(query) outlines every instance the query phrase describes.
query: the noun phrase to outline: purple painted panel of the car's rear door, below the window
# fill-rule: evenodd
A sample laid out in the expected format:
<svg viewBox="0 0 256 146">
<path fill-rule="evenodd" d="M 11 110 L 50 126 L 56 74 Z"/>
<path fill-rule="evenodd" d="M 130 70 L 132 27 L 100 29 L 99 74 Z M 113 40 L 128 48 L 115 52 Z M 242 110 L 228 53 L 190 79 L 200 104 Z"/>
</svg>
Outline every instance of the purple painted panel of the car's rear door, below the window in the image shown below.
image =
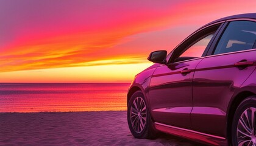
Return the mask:
<svg viewBox="0 0 256 146">
<path fill-rule="evenodd" d="M 255 69 L 255 66 L 240 69 L 234 64 L 241 60 L 254 62 L 255 54 L 256 50 L 249 50 L 212 55 L 205 57 L 197 65 L 193 80 L 194 104 L 191 112 L 193 130 L 226 137 L 226 113 L 229 101 L 235 90 L 240 88 Z"/>
</svg>

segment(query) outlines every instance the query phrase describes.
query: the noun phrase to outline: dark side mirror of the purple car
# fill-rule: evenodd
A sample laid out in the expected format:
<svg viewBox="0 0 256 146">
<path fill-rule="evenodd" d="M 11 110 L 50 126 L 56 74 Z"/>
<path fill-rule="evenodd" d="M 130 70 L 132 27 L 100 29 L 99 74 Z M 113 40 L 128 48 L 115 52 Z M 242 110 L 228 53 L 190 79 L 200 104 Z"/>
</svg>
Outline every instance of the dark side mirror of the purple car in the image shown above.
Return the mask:
<svg viewBox="0 0 256 146">
<path fill-rule="evenodd" d="M 166 64 L 166 50 L 157 50 L 149 54 L 148 60 L 154 63 Z"/>
</svg>

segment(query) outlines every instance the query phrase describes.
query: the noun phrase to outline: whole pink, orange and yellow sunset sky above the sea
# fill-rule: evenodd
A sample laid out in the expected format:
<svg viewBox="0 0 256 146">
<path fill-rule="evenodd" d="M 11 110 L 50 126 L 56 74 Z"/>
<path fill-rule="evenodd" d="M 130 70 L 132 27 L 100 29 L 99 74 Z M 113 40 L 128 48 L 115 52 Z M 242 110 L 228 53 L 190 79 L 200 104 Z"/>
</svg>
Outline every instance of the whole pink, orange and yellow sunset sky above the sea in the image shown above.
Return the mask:
<svg viewBox="0 0 256 146">
<path fill-rule="evenodd" d="M 0 0 L 0 82 L 131 82 L 170 52 L 256 1 Z"/>
</svg>

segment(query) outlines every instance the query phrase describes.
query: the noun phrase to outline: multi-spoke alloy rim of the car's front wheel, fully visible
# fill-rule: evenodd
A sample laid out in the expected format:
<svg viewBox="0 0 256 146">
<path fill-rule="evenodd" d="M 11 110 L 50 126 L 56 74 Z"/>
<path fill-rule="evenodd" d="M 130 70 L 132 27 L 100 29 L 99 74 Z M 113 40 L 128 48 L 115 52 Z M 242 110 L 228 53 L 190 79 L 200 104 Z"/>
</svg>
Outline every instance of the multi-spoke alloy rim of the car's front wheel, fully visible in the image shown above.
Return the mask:
<svg viewBox="0 0 256 146">
<path fill-rule="evenodd" d="M 147 108 L 143 98 L 136 97 L 133 100 L 130 108 L 130 121 L 135 132 L 141 133 L 144 130 L 147 121 Z"/>
</svg>

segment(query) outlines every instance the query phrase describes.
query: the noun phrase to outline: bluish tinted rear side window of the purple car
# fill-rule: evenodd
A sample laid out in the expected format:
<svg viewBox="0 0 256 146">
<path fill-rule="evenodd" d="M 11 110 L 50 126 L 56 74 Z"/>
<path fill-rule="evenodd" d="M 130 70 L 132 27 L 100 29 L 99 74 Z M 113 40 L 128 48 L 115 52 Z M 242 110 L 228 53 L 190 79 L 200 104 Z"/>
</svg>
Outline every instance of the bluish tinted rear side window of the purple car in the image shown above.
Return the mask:
<svg viewBox="0 0 256 146">
<path fill-rule="evenodd" d="M 233 21 L 222 34 L 215 54 L 224 54 L 255 47 L 256 23 L 252 21 Z"/>
</svg>

